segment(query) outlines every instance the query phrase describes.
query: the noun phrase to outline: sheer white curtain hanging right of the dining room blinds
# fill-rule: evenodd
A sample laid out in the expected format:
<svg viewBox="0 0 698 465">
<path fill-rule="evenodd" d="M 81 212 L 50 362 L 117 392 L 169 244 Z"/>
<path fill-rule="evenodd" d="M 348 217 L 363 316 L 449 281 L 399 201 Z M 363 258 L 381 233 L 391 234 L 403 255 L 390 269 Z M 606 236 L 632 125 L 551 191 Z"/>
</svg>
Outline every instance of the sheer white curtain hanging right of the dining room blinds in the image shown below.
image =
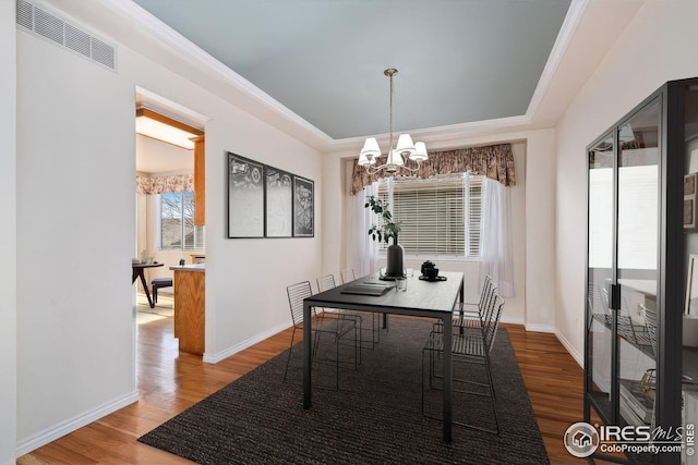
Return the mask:
<svg viewBox="0 0 698 465">
<path fill-rule="evenodd" d="M 503 297 L 514 296 L 512 264 L 512 193 L 493 180 L 484 181 L 480 222 L 480 284 L 490 276 Z"/>
</svg>

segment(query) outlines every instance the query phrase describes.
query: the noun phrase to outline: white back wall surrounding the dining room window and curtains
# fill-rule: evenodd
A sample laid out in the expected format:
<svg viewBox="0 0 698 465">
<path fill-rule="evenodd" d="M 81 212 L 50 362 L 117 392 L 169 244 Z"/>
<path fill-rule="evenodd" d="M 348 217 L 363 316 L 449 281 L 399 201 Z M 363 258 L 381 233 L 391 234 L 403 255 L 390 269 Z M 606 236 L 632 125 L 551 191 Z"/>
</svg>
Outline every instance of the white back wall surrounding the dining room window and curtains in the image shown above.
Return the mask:
<svg viewBox="0 0 698 465">
<path fill-rule="evenodd" d="M 530 330 L 553 331 L 554 280 L 552 257 L 554 241 L 554 140 L 552 130 L 527 131 L 509 134 L 481 135 L 442 142 L 430 146 L 432 150 L 453 147 L 482 146 L 512 142 L 517 185 L 512 187 L 514 297 L 506 299 L 503 320 L 525 323 Z M 345 192 L 345 172 L 340 160 L 356 157 L 352 152 L 328 155 L 324 161 L 323 272 L 338 273 L 352 264 L 347 262 L 346 221 L 342 206 L 348 205 Z M 530 181 L 533 180 L 533 182 Z M 530 218 L 530 219 L 529 219 Z M 423 259 L 421 260 L 423 261 Z M 419 270 L 420 260 L 408 260 L 406 266 Z M 478 265 L 471 261 L 438 262 L 440 268 L 466 273 L 466 298 L 478 298 Z"/>
</svg>

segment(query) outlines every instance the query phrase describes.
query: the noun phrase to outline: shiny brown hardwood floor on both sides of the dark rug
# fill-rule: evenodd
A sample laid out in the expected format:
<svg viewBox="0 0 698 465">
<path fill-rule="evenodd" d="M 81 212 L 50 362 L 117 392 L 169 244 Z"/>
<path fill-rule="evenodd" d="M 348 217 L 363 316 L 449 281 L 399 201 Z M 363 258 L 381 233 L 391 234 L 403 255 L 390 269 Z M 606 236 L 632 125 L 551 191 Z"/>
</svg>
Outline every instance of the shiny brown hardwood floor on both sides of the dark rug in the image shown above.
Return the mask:
<svg viewBox="0 0 698 465">
<path fill-rule="evenodd" d="M 503 326 L 509 332 L 551 463 L 586 463 L 567 453 L 562 441 L 567 427 L 582 419 L 581 368 L 555 335 Z M 290 336 L 290 330 L 284 331 L 210 365 L 179 353 L 171 318 L 141 323 L 140 401 L 23 455 L 17 464 L 191 463 L 141 444 L 136 438 L 284 352 Z"/>
</svg>

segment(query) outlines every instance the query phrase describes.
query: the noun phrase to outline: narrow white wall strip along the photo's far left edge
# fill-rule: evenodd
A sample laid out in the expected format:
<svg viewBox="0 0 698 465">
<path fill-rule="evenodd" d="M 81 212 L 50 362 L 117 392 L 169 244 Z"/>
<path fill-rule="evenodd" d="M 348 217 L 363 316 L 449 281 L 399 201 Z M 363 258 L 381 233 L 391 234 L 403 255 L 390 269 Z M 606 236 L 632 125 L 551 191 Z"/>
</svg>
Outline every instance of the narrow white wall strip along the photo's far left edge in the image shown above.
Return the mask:
<svg viewBox="0 0 698 465">
<path fill-rule="evenodd" d="M 16 441 L 16 37 L 15 2 L 0 2 L 0 464 Z"/>
</svg>

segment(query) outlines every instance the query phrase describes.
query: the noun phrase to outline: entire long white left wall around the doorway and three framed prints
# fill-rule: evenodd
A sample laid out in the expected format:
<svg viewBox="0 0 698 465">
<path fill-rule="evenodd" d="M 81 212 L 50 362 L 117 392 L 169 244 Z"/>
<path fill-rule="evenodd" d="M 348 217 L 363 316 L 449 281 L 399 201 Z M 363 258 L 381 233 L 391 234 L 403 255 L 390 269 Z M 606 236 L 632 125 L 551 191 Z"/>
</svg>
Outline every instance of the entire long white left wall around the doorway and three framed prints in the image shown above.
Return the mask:
<svg viewBox="0 0 698 465">
<path fill-rule="evenodd" d="M 113 73 L 24 32 L 16 37 L 16 436 L 25 453 L 137 396 L 129 279 L 136 249 L 136 86 L 210 118 L 206 359 L 287 327 L 285 286 L 321 270 L 318 229 L 312 238 L 226 237 L 226 150 L 314 180 L 317 224 L 323 183 L 315 150 L 124 46 Z"/>
</svg>

